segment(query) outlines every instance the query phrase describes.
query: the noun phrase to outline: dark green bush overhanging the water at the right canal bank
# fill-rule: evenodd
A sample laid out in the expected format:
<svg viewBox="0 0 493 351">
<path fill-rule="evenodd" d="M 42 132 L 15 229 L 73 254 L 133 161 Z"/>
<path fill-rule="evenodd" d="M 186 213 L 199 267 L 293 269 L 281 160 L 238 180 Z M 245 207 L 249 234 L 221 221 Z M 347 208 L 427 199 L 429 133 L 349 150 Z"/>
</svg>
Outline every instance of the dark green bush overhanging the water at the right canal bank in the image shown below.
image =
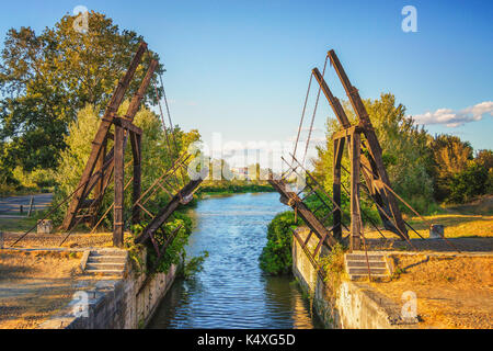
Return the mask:
<svg viewBox="0 0 493 351">
<path fill-rule="evenodd" d="M 293 233 L 291 228 L 302 224 L 295 220 L 294 212 L 277 215 L 268 225 L 267 245 L 260 257 L 261 269 L 272 275 L 286 274 L 293 267 Z"/>
</svg>

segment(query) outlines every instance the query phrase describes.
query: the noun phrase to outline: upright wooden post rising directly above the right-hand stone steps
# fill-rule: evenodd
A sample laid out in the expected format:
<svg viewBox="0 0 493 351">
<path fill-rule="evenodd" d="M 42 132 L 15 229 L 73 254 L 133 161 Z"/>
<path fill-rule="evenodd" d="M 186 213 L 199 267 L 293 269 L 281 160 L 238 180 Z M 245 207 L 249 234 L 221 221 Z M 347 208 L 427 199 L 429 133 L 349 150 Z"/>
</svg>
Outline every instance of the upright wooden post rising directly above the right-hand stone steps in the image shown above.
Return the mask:
<svg viewBox="0 0 493 351">
<path fill-rule="evenodd" d="M 351 159 L 351 250 L 359 250 L 362 239 L 362 215 L 359 213 L 359 168 L 362 136 L 353 133 L 349 143 Z"/>
</svg>

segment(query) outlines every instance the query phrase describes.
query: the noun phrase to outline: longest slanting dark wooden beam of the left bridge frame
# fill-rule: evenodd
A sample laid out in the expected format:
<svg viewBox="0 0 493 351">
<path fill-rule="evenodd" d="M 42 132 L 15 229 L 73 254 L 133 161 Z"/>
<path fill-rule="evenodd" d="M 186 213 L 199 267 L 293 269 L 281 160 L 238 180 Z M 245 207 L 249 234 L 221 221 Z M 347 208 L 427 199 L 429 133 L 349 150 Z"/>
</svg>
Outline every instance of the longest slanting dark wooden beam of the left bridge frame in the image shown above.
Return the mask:
<svg viewBox="0 0 493 351">
<path fill-rule="evenodd" d="M 131 79 L 134 78 L 134 75 L 137 70 L 137 67 L 140 64 L 140 60 L 147 49 L 147 44 L 141 43 L 137 54 L 135 55 L 134 59 L 130 63 L 130 66 L 123 77 L 123 79 L 118 82 L 118 86 L 115 89 L 115 92 L 113 93 L 112 100 L 110 101 L 110 104 L 106 107 L 106 112 L 104 113 L 104 120 L 112 120 L 113 116 L 118 111 L 119 105 L 122 104 L 125 92 L 128 89 L 128 86 L 130 84 Z M 80 201 L 84 200 L 83 195 L 87 194 L 85 190 L 88 186 L 88 183 L 91 179 L 91 174 L 94 171 L 94 167 L 96 166 L 96 159 L 99 155 L 101 154 L 101 149 L 103 148 L 104 141 L 106 139 L 107 133 L 110 131 L 111 123 L 110 122 L 102 122 L 100 125 L 100 128 L 96 133 L 96 136 L 94 137 L 94 143 L 92 145 L 91 155 L 89 156 L 89 160 L 85 165 L 84 171 L 82 172 L 82 177 L 79 182 L 80 189 L 76 192 L 72 201 L 70 202 L 70 205 L 68 207 L 67 216 L 64 219 L 62 228 L 65 230 L 69 230 L 73 224 L 74 216 L 77 215 L 77 212 L 79 210 Z"/>
</svg>

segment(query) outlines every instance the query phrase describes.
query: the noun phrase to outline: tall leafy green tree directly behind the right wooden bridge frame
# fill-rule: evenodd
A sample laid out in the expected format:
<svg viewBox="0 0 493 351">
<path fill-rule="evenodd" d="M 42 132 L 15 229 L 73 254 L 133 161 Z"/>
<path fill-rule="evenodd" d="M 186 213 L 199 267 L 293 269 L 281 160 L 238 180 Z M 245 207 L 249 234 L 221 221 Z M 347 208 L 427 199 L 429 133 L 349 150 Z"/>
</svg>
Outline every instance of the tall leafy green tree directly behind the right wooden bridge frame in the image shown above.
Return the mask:
<svg viewBox="0 0 493 351">
<path fill-rule="evenodd" d="M 433 180 L 428 172 L 433 165 L 426 132 L 405 116 L 404 106 L 395 106 L 395 98 L 390 93 L 381 94 L 378 100 L 365 100 L 364 103 L 380 140 L 383 162 L 394 191 L 416 210 L 426 212 L 433 202 Z M 357 117 L 347 102 L 344 110 L 349 121 L 357 124 Z M 332 193 L 333 180 L 332 135 L 340 129 L 336 120 L 328 121 L 326 144 L 318 148 L 319 157 L 313 161 L 316 176 L 329 193 Z M 343 166 L 349 169 L 346 154 Z M 348 174 L 343 172 L 342 176 L 343 184 L 349 189 Z"/>
</svg>

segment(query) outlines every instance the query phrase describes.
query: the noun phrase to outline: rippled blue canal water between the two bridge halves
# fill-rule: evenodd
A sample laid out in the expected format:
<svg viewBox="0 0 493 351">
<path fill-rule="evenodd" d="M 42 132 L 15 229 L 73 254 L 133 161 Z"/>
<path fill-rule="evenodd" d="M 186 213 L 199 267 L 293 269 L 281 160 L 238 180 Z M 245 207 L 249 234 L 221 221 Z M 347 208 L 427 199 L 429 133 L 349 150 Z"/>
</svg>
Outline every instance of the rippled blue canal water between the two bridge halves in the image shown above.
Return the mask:
<svg viewBox="0 0 493 351">
<path fill-rule="evenodd" d="M 149 328 L 321 328 L 294 278 L 268 276 L 259 268 L 267 225 L 287 210 L 277 193 L 202 200 L 187 256 L 207 250 L 209 258 L 204 271 L 175 282 Z"/>
</svg>

